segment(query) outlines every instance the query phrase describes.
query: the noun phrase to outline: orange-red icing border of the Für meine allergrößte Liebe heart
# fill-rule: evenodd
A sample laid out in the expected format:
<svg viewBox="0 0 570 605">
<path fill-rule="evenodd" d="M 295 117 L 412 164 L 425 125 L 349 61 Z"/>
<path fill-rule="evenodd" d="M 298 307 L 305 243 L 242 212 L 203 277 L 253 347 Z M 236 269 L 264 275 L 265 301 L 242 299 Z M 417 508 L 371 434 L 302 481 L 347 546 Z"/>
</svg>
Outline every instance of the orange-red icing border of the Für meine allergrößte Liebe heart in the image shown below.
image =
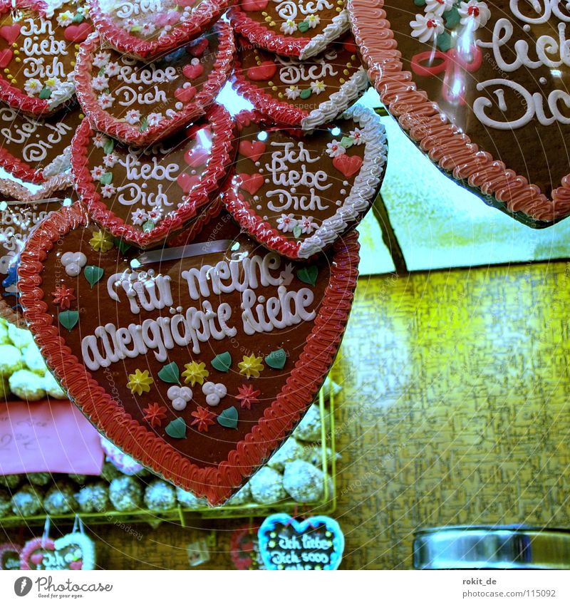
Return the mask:
<svg viewBox="0 0 570 605">
<path fill-rule="evenodd" d="M 48 365 L 78 408 L 115 445 L 165 479 L 219 505 L 237 491 L 291 433 L 321 387 L 340 346 L 358 277 L 358 234 L 333 246 L 331 277 L 311 334 L 289 378 L 264 417 L 218 468 L 199 467 L 125 413 L 93 380 L 59 336 L 46 313 L 41 289 L 43 260 L 66 233 L 88 223 L 81 205 L 64 207 L 36 229 L 21 254 L 19 288 L 24 314 Z"/>
</svg>

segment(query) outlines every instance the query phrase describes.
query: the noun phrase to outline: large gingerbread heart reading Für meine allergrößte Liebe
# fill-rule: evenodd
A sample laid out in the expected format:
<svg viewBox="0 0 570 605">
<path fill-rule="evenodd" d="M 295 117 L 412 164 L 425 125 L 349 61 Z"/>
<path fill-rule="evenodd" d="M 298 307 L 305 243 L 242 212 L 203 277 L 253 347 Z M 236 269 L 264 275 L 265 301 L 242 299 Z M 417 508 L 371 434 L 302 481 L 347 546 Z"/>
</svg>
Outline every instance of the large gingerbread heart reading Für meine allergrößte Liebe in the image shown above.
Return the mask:
<svg viewBox="0 0 570 605">
<path fill-rule="evenodd" d="M 79 205 L 32 235 L 19 269 L 30 329 L 98 430 L 222 503 L 321 387 L 351 309 L 357 234 L 311 264 L 259 246 L 225 212 L 182 248 L 141 256 L 102 241 Z"/>
</svg>

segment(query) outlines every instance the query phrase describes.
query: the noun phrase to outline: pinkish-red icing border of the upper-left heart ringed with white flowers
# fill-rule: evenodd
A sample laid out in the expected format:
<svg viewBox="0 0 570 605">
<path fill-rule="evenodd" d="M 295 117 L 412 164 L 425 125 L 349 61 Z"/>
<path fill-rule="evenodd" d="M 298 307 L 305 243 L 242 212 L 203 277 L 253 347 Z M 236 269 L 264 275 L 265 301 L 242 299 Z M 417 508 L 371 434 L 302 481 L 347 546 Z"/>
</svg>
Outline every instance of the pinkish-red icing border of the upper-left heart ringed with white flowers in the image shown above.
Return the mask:
<svg viewBox="0 0 570 605">
<path fill-rule="evenodd" d="M 214 98 L 229 78 L 232 71 L 235 43 L 232 28 L 225 21 L 219 21 L 214 29 L 218 33 L 218 52 L 216 61 L 209 73 L 207 81 L 197 93 L 191 103 L 187 103 L 181 111 L 177 112 L 172 120 L 163 120 L 162 123 L 147 128 L 141 133 L 138 128 L 125 121 L 113 118 L 97 102 L 97 95 L 91 88 L 91 68 L 93 52 L 98 51 L 100 37 L 92 33 L 79 48 L 76 65 L 76 93 L 81 107 L 93 126 L 103 133 L 135 145 L 150 145 L 157 140 L 167 137 L 183 128 L 191 120 L 203 115 L 209 105 L 214 103 Z"/>
</svg>

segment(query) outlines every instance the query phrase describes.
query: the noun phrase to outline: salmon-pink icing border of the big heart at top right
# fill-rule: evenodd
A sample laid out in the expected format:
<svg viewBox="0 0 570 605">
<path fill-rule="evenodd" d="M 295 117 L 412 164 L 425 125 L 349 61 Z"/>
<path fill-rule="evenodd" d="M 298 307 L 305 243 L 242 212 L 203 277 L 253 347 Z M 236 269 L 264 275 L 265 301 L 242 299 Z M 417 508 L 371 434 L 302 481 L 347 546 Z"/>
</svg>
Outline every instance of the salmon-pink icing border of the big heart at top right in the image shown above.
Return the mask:
<svg viewBox="0 0 570 605">
<path fill-rule="evenodd" d="M 494 196 L 509 212 L 524 212 L 533 220 L 546 222 L 567 217 L 570 174 L 549 200 L 537 185 L 480 150 L 452 125 L 437 103 L 418 90 L 412 74 L 404 71 L 384 4 L 384 0 L 348 0 L 348 12 L 363 62 L 368 65 L 368 78 L 410 138 L 453 178 L 465 180 L 482 195 Z"/>
</svg>

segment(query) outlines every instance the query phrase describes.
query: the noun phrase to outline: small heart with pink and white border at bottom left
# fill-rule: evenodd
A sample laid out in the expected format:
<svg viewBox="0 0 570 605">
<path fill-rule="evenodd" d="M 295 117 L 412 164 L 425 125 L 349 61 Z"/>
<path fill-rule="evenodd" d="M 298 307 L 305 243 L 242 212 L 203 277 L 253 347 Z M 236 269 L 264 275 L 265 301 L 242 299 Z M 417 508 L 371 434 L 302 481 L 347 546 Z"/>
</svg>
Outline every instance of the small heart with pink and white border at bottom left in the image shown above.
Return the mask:
<svg viewBox="0 0 570 605">
<path fill-rule="evenodd" d="M 56 571 L 58 569 L 95 569 L 95 544 L 86 534 L 73 532 L 61 538 L 33 538 L 24 544 L 20 554 L 24 571 Z"/>
</svg>

